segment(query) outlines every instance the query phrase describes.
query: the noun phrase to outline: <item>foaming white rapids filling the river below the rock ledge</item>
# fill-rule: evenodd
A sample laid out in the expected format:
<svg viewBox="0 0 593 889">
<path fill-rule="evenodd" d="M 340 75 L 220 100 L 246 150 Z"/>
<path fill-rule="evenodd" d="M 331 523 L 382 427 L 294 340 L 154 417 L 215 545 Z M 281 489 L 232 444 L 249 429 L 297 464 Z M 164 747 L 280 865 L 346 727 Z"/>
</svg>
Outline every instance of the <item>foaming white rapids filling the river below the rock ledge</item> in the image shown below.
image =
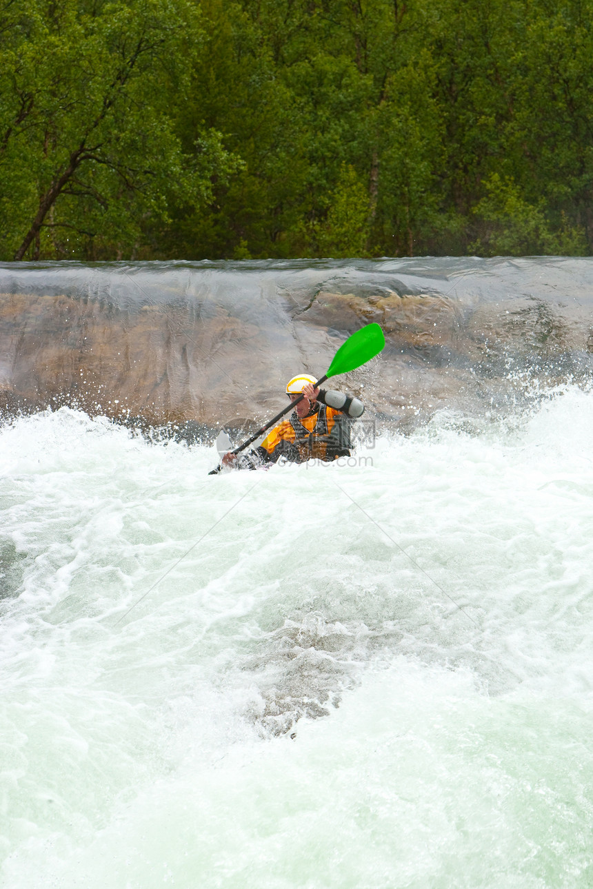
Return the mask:
<svg viewBox="0 0 593 889">
<path fill-rule="evenodd" d="M 0 428 L 5 889 L 585 887 L 593 392 L 350 465 Z"/>
</svg>

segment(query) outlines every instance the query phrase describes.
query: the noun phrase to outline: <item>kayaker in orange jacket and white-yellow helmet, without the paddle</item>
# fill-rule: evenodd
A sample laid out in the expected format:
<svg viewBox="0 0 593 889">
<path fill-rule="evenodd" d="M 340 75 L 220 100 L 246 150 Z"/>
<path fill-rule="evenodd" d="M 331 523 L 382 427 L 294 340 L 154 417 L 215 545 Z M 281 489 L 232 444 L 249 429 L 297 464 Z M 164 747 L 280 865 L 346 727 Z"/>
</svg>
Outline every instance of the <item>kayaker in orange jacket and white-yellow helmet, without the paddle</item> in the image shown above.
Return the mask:
<svg viewBox="0 0 593 889">
<path fill-rule="evenodd" d="M 226 453 L 224 466 L 237 469 L 258 469 L 265 463 L 276 463 L 280 457 L 293 463 L 311 458 L 332 462 L 350 456 L 351 426 L 362 416 L 365 405 L 352 396 L 335 389 L 315 388 L 315 377 L 301 373 L 286 385 L 291 401 L 305 396 L 284 420 L 272 429 L 261 445 L 245 454 Z"/>
</svg>

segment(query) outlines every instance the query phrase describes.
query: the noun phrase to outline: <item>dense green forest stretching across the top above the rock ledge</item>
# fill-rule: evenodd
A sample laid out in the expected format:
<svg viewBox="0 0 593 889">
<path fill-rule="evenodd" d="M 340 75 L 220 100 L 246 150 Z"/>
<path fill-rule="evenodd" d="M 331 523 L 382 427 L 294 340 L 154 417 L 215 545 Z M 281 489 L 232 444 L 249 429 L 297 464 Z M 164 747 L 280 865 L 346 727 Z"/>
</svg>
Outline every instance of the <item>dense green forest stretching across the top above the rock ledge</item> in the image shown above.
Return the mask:
<svg viewBox="0 0 593 889">
<path fill-rule="evenodd" d="M 593 0 L 1 0 L 3 260 L 593 253 Z"/>
</svg>

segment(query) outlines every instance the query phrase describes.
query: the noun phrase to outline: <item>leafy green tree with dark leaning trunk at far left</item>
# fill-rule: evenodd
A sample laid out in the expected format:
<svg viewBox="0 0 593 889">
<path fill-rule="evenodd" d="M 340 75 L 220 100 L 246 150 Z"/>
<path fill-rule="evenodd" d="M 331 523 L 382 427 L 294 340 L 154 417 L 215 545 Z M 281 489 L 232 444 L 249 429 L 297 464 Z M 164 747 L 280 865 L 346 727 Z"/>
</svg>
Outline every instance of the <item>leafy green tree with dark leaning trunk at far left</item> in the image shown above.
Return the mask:
<svg viewBox="0 0 593 889">
<path fill-rule="evenodd" d="M 0 20 L 0 244 L 5 258 L 131 253 L 172 196 L 203 203 L 232 159 L 191 155 L 168 115 L 203 45 L 186 0 L 26 0 Z"/>
</svg>

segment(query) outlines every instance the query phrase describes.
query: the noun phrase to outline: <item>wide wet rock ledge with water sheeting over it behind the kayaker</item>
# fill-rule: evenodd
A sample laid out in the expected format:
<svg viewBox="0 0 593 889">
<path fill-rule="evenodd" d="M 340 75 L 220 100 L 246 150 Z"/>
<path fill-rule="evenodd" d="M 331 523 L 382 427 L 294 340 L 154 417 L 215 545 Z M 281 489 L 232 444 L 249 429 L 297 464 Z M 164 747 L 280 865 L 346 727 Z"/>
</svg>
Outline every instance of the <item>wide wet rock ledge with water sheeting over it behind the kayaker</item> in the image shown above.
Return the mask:
<svg viewBox="0 0 593 889">
<path fill-rule="evenodd" d="M 501 405 L 525 375 L 589 379 L 593 260 L 571 260 L 576 296 L 562 264 L 565 290 L 550 295 L 549 266 L 545 285 L 533 284 L 544 260 L 510 270 L 500 260 L 496 274 L 477 260 L 444 261 L 6 264 L 0 406 L 248 428 L 284 407 L 295 372 L 321 375 L 370 322 L 386 349 L 334 385 L 403 428 L 439 407 Z M 517 262 L 528 289 L 517 287 Z"/>
</svg>

